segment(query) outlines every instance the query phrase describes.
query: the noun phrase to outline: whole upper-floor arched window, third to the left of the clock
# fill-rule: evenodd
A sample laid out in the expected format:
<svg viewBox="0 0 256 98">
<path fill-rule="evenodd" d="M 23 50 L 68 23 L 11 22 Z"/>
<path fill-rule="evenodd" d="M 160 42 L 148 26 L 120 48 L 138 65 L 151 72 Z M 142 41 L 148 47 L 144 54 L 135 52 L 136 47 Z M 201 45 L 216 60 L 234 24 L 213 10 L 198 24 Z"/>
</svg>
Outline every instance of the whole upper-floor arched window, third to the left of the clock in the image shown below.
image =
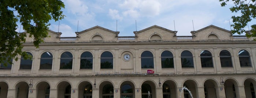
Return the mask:
<svg viewBox="0 0 256 98">
<path fill-rule="evenodd" d="M 64 52 L 60 56 L 60 69 L 72 69 L 73 56 L 70 52 Z"/>
</svg>

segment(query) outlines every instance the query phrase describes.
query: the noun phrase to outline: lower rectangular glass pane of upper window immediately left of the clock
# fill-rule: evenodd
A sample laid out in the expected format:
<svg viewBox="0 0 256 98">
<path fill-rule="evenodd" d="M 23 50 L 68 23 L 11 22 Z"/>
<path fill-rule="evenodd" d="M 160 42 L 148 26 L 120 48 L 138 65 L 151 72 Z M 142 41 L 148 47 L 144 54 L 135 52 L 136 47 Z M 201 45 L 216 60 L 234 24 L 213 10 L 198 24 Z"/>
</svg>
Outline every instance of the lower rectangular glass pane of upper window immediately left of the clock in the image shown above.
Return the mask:
<svg viewBox="0 0 256 98">
<path fill-rule="evenodd" d="M 100 68 L 101 69 L 112 69 L 113 68 L 113 59 L 100 59 Z"/>
</svg>

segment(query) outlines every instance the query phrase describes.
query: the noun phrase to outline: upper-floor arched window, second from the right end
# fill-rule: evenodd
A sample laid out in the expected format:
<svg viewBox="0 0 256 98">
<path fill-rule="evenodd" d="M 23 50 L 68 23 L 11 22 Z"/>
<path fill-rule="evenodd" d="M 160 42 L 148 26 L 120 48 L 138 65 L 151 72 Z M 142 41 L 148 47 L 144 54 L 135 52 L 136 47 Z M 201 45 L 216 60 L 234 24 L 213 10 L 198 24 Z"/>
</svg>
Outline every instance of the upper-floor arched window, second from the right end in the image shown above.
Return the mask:
<svg viewBox="0 0 256 98">
<path fill-rule="evenodd" d="M 222 50 L 219 54 L 221 67 L 232 67 L 232 60 L 229 51 Z"/>
</svg>

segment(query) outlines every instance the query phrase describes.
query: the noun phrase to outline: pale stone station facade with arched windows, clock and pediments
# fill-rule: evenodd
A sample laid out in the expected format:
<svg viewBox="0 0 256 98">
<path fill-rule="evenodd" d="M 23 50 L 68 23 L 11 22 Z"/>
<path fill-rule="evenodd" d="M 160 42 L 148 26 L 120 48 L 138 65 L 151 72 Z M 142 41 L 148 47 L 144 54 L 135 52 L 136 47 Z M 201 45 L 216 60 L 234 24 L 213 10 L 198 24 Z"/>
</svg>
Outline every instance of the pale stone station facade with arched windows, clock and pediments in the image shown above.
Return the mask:
<svg viewBox="0 0 256 98">
<path fill-rule="evenodd" d="M 256 42 L 213 25 L 192 36 L 159 26 L 131 37 L 100 26 L 48 33 L 40 48 L 23 43 L 31 64 L 0 68 L 0 98 L 188 98 L 184 86 L 194 98 L 255 97 Z"/>
</svg>

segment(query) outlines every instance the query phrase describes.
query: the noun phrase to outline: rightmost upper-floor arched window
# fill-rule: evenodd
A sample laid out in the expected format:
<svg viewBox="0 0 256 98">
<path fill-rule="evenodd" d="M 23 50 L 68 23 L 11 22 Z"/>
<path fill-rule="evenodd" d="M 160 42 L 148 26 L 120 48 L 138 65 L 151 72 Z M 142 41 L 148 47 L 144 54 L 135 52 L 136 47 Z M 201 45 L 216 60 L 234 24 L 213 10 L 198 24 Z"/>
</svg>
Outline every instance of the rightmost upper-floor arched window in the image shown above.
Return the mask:
<svg viewBox="0 0 256 98">
<path fill-rule="evenodd" d="M 250 55 L 246 50 L 241 50 L 238 53 L 239 56 L 239 61 L 240 61 L 240 66 L 241 67 L 248 67 L 248 66 L 252 66 L 251 65 L 251 59 L 250 59 Z"/>
</svg>

